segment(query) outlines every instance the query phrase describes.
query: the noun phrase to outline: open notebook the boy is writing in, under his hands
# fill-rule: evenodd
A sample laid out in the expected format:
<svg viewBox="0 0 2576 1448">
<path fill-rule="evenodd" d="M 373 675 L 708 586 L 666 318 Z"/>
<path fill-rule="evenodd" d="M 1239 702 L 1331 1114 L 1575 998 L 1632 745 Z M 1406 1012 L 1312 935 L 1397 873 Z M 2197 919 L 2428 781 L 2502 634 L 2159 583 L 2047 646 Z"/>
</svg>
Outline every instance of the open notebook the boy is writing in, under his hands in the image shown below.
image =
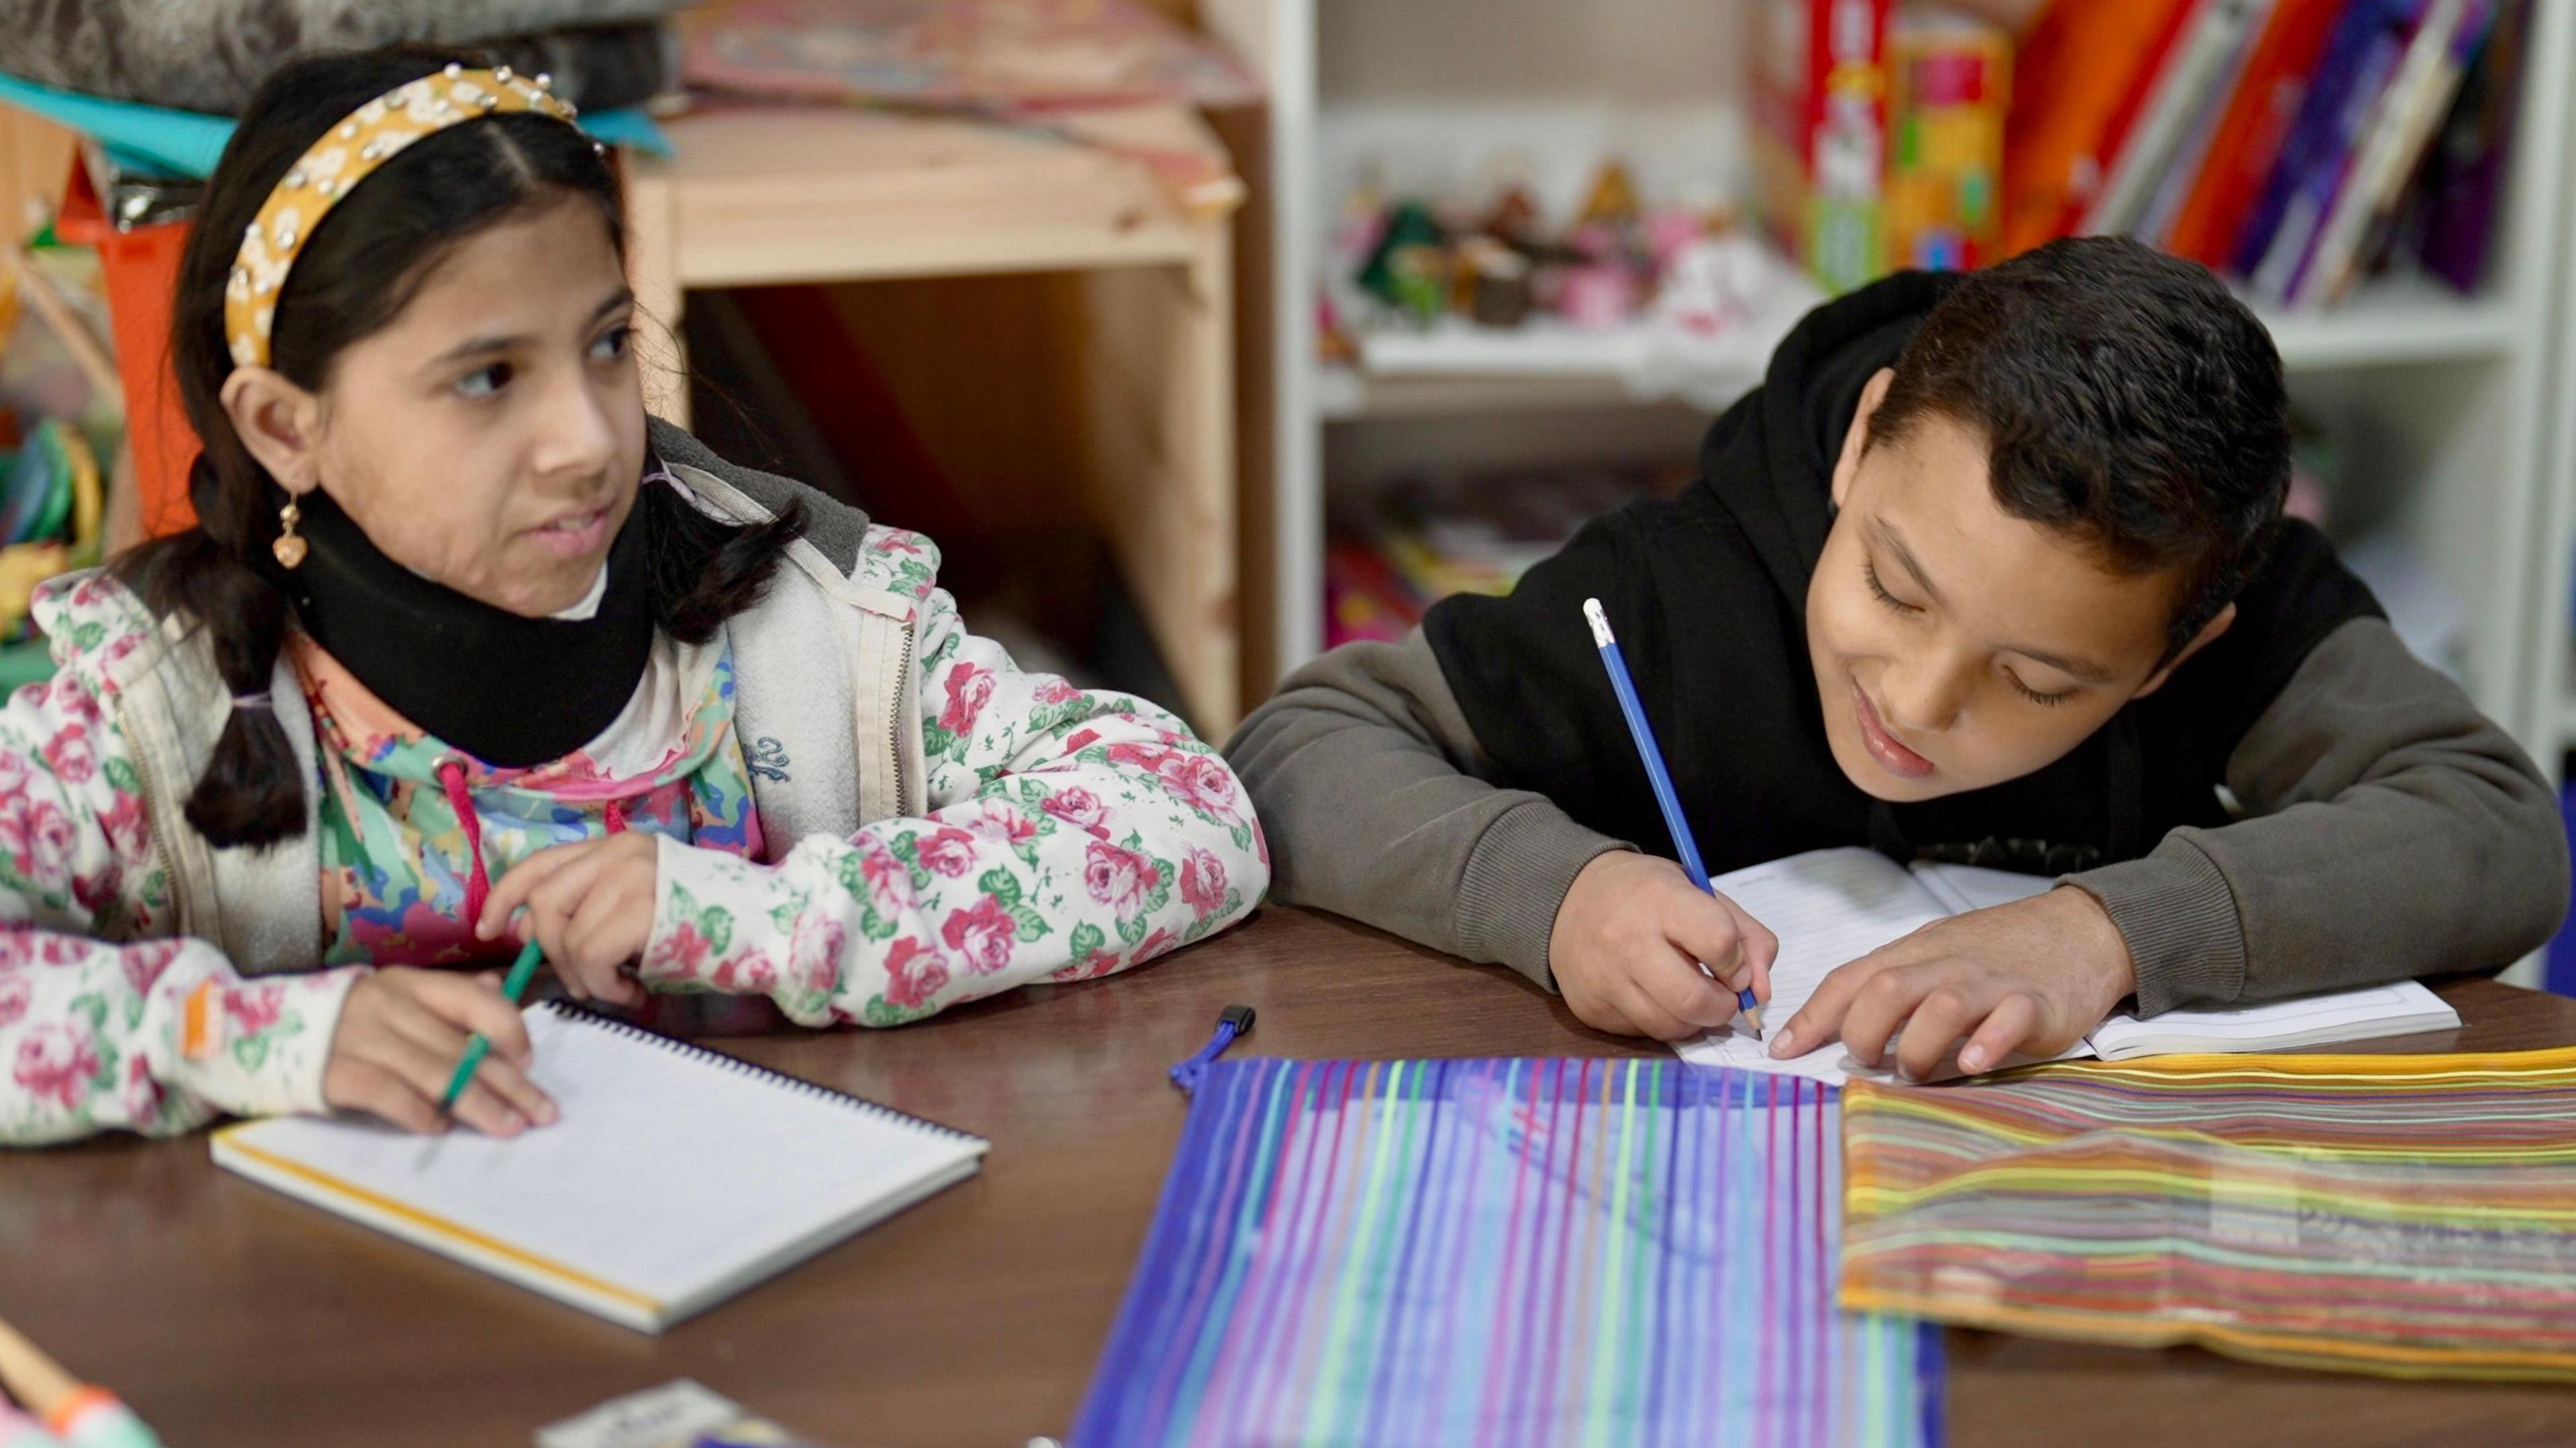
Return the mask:
<svg viewBox="0 0 2576 1448">
<path fill-rule="evenodd" d="M 1716 879 L 1718 891 L 1780 935 L 1772 1000 L 1762 1007 L 1770 1025 L 1785 1025 L 1834 966 L 1947 915 L 2027 899 L 2050 884 L 2048 876 L 1976 866 L 1917 863 L 1906 868 L 1873 850 L 1814 850 Z M 2166 1010 L 2148 1020 L 2123 1013 L 2056 1059 L 2125 1062 L 2172 1051 L 2290 1051 L 2372 1036 L 2450 1031 L 2452 1025 L 2460 1025 L 2460 1013 L 2442 997 L 2416 982 L 2398 982 L 2236 1010 Z M 1682 1041 L 1677 1051 L 1695 1064 L 1790 1072 L 1826 1082 L 1888 1077 L 1888 1072 L 1855 1064 L 1839 1041 L 1775 1062 L 1752 1036 L 1723 1031 Z M 2027 1064 L 2027 1059 L 2012 1056 L 2004 1064 Z"/>
</svg>

